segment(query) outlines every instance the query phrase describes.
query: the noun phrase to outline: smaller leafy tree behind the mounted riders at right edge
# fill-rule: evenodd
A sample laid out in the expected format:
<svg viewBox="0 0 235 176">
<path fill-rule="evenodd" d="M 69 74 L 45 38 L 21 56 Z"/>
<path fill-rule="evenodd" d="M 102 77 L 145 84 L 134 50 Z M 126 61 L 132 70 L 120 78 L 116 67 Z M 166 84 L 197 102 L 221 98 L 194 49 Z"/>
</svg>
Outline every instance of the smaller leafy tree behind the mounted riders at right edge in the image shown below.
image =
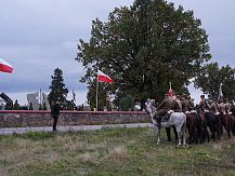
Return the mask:
<svg viewBox="0 0 235 176">
<path fill-rule="evenodd" d="M 223 95 L 226 98 L 235 98 L 235 69 L 226 65 L 219 67 L 218 63 L 211 63 L 203 67 L 195 80 L 195 86 L 201 87 L 205 94 L 213 97 L 219 95 L 220 84 L 222 83 Z"/>
</svg>

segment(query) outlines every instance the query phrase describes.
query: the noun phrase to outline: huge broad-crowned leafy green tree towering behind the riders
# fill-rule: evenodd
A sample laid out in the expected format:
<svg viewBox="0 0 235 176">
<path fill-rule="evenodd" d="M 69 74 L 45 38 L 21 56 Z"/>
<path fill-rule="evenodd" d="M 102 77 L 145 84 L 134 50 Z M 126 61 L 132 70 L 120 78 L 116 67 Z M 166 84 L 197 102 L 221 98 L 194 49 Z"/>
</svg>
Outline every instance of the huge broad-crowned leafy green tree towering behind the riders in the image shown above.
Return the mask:
<svg viewBox="0 0 235 176">
<path fill-rule="evenodd" d="M 100 68 L 115 80 L 107 89 L 117 98 L 131 95 L 144 105 L 147 97 L 160 99 L 170 81 L 178 93 L 185 91 L 208 52 L 208 36 L 193 11 L 165 0 L 135 0 L 116 8 L 108 22 L 93 21 L 76 59 L 87 69 L 81 82 L 92 85 Z"/>
</svg>

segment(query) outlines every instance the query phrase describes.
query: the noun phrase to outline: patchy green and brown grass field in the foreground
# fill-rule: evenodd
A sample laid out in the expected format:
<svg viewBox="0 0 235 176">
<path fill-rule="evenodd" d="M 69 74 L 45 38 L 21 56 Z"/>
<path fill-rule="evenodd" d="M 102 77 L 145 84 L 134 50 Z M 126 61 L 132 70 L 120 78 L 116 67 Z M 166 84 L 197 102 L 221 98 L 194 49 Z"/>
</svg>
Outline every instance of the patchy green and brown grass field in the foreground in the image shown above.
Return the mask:
<svg viewBox="0 0 235 176">
<path fill-rule="evenodd" d="M 235 175 L 235 137 L 177 148 L 154 128 L 0 136 L 0 175 Z"/>
</svg>

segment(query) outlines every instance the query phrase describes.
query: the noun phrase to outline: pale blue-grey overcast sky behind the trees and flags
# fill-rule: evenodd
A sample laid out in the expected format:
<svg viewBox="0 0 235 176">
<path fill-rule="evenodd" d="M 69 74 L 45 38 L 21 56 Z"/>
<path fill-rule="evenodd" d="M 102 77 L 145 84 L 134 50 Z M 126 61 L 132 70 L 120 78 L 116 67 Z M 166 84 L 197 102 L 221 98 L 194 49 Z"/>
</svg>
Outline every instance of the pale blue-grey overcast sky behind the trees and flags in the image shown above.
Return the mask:
<svg viewBox="0 0 235 176">
<path fill-rule="evenodd" d="M 235 1 L 169 0 L 175 6 L 193 10 L 209 35 L 211 62 L 235 67 Z M 79 39 L 90 38 L 91 22 L 107 21 L 108 13 L 133 0 L 0 0 L 0 58 L 14 67 L 12 75 L 0 72 L 0 92 L 27 104 L 26 94 L 40 89 L 48 93 L 55 68 L 64 72 L 64 82 L 76 92 L 77 105 L 83 104 L 84 75 L 75 60 Z M 195 99 L 199 91 L 190 86 Z M 196 97 L 197 96 L 197 97 Z"/>
</svg>

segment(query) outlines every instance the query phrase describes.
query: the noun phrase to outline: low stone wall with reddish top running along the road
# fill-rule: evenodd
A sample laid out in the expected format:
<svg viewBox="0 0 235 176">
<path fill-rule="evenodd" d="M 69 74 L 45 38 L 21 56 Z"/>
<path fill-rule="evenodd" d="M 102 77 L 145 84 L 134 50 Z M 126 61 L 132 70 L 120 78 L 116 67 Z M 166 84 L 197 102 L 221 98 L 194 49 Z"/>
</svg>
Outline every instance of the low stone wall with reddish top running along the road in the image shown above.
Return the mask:
<svg viewBox="0 0 235 176">
<path fill-rule="evenodd" d="M 1 110 L 0 127 L 51 126 L 50 111 Z M 93 125 L 151 122 L 145 112 L 134 111 L 61 111 L 57 125 Z"/>
</svg>

